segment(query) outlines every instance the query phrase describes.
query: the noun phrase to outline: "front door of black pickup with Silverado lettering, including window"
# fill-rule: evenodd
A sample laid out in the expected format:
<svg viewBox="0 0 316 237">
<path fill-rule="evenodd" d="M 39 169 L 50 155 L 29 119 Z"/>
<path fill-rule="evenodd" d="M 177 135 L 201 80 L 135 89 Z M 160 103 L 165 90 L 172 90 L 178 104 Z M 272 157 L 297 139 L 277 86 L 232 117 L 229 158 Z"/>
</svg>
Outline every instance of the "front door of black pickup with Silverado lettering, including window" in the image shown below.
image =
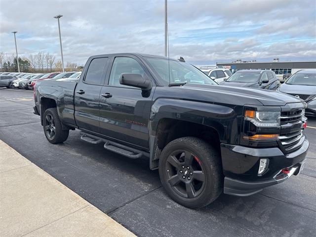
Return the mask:
<svg viewBox="0 0 316 237">
<path fill-rule="evenodd" d="M 122 73 L 149 77 L 143 63 L 133 55 L 114 57 L 108 83 L 100 93 L 100 133 L 112 139 L 148 148 L 149 118 L 155 87 L 149 94 L 132 86 L 121 85 Z M 149 77 L 151 78 L 151 77 Z M 154 84 L 154 81 L 152 79 Z"/>
</svg>

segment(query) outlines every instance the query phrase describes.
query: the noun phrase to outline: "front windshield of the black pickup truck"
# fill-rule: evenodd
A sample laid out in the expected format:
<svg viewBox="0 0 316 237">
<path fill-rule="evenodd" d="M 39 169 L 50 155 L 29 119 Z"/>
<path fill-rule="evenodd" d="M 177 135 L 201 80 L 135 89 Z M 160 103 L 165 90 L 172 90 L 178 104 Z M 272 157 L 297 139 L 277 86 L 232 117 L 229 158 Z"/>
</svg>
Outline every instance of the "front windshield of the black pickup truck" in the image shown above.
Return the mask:
<svg viewBox="0 0 316 237">
<path fill-rule="evenodd" d="M 162 58 L 147 58 L 165 85 L 177 83 L 217 84 L 194 66 Z M 169 61 L 169 62 L 168 62 Z M 170 68 L 170 82 L 169 69 Z"/>
</svg>

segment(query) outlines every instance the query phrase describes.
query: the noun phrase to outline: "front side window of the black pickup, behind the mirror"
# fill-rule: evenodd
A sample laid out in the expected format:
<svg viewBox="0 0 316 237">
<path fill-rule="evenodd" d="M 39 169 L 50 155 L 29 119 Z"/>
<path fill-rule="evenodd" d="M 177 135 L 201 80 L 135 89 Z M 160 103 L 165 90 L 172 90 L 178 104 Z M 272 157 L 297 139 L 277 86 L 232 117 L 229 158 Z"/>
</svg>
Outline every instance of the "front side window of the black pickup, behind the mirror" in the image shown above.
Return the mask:
<svg viewBox="0 0 316 237">
<path fill-rule="evenodd" d="M 142 76 L 145 74 L 143 68 L 135 59 L 129 57 L 116 57 L 112 66 L 109 85 L 130 87 L 119 83 L 119 77 L 122 73 L 134 73 Z"/>
</svg>

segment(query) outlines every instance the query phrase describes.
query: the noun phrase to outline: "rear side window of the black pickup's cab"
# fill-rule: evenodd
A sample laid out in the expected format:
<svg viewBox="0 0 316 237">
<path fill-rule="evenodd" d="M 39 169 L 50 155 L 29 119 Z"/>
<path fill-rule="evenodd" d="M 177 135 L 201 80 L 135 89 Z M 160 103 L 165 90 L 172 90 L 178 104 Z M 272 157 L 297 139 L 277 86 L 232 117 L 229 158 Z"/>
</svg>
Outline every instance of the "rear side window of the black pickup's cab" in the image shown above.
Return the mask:
<svg viewBox="0 0 316 237">
<path fill-rule="evenodd" d="M 95 58 L 90 62 L 84 81 L 89 84 L 101 84 L 104 79 L 104 68 L 108 58 Z"/>
</svg>

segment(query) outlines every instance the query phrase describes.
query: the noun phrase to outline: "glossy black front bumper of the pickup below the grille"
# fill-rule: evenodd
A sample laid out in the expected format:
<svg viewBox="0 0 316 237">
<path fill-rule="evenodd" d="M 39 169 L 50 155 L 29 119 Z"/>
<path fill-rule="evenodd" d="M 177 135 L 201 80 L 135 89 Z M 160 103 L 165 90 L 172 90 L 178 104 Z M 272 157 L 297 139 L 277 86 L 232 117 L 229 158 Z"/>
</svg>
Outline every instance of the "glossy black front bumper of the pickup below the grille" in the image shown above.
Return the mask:
<svg viewBox="0 0 316 237">
<path fill-rule="evenodd" d="M 249 196 L 263 188 L 284 182 L 299 173 L 305 162 L 309 141 L 304 140 L 300 149 L 284 155 L 277 147 L 249 148 L 221 144 L 224 178 L 224 193 L 235 196 Z M 258 176 L 261 158 L 269 159 L 269 166 Z M 287 168 L 288 174 L 281 172 Z"/>
</svg>

